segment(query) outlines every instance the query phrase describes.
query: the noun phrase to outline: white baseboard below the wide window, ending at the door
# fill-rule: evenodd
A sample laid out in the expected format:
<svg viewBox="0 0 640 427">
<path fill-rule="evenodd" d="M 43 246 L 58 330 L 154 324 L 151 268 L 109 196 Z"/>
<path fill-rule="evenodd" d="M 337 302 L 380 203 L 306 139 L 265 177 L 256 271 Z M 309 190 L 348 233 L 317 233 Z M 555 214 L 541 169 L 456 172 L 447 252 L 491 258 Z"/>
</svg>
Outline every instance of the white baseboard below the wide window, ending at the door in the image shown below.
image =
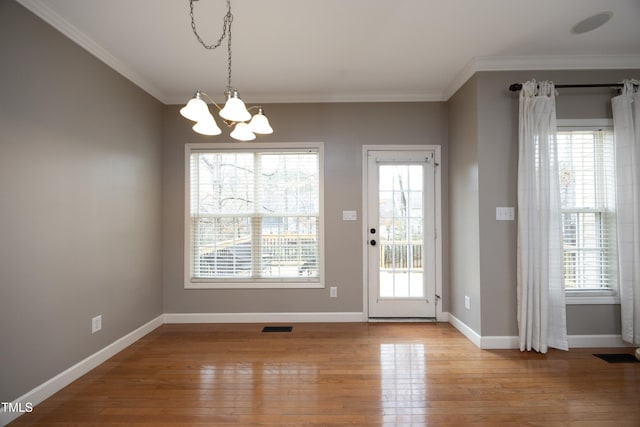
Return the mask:
<svg viewBox="0 0 640 427">
<path fill-rule="evenodd" d="M 364 322 L 364 313 L 165 313 L 164 323 Z"/>
</svg>

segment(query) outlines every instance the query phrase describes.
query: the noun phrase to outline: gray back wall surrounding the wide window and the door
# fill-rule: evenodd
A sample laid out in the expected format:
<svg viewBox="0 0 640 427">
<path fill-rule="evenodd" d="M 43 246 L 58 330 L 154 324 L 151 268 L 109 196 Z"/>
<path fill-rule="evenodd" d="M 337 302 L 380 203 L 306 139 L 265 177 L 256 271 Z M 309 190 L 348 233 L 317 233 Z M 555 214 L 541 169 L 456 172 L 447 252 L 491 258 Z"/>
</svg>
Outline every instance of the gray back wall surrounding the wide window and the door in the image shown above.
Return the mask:
<svg viewBox="0 0 640 427">
<path fill-rule="evenodd" d="M 201 137 L 191 130 L 191 122 L 179 115 L 178 108 L 169 106 L 164 114 L 163 279 L 167 313 L 362 312 L 362 146 L 442 145 L 446 186 L 444 103 L 265 105 L 275 132 L 260 141 L 325 143 L 326 286 L 338 286 L 338 298 L 329 298 L 328 288 L 185 290 L 184 144 L 228 141 L 228 130 L 217 137 Z M 443 205 L 443 217 L 447 217 L 446 199 Z M 343 221 L 343 210 L 358 211 L 358 221 Z"/>
</svg>

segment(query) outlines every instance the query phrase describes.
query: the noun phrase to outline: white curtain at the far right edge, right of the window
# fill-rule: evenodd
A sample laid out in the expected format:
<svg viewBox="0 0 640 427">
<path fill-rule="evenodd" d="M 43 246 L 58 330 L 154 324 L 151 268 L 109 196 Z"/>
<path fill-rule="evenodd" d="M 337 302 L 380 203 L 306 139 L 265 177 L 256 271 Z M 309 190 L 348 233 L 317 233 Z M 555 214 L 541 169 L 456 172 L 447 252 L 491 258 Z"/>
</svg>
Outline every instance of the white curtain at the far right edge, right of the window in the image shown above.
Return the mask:
<svg viewBox="0 0 640 427">
<path fill-rule="evenodd" d="M 611 100 L 616 138 L 622 339 L 631 344 L 640 344 L 640 93 L 637 84 L 638 81 L 625 81 L 622 93 Z"/>
</svg>

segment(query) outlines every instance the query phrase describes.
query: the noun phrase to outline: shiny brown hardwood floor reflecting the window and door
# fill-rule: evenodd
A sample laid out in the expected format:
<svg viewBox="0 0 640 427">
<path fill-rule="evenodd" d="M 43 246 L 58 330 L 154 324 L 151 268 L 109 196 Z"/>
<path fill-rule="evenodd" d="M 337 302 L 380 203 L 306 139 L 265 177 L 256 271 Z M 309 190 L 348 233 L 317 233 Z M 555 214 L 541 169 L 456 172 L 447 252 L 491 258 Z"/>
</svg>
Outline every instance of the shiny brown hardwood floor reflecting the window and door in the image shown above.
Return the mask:
<svg viewBox="0 0 640 427">
<path fill-rule="evenodd" d="M 449 324 L 163 325 L 11 426 L 640 426 L 640 363 Z"/>
</svg>

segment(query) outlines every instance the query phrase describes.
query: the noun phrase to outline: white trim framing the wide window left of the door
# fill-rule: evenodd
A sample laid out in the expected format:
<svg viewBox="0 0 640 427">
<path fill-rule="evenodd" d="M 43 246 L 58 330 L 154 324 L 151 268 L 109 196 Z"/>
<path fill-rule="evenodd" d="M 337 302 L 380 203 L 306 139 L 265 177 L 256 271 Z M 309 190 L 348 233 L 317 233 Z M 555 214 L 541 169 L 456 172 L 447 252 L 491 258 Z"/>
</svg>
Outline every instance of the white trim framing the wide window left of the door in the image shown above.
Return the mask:
<svg viewBox="0 0 640 427">
<path fill-rule="evenodd" d="M 189 265 L 191 262 L 191 168 L 190 158 L 192 152 L 201 150 L 218 150 L 218 151 L 239 151 L 239 150 L 274 150 L 274 151 L 293 151 L 293 150 L 316 150 L 318 152 L 319 167 L 319 191 L 320 191 L 320 208 L 319 208 L 319 229 L 318 236 L 320 239 L 318 248 L 318 273 L 317 280 L 261 280 L 260 282 L 245 281 L 242 279 L 216 279 L 207 282 L 203 279 L 191 279 Z M 276 143 L 276 142 L 212 142 L 212 143 L 187 143 L 185 144 L 184 159 L 184 288 L 185 289 L 318 289 L 325 287 L 325 256 L 324 256 L 324 143 L 322 142 L 305 142 L 305 143 Z"/>
</svg>

